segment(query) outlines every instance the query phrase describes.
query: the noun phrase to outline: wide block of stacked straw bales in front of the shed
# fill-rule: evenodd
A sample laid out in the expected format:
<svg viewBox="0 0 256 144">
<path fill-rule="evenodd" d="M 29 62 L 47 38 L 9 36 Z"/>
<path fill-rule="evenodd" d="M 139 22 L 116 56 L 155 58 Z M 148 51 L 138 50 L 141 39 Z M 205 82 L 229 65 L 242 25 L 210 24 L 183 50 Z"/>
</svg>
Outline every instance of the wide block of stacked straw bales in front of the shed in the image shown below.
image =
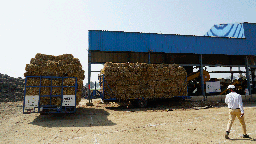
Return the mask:
<svg viewBox="0 0 256 144">
<path fill-rule="evenodd" d="M 183 85 L 187 73 L 178 64 L 106 62 L 101 74 L 104 74 L 112 89 L 111 92 L 104 83 L 111 98 L 170 98 L 187 95 L 187 84 Z M 105 98 L 109 98 L 106 92 Z"/>
</svg>

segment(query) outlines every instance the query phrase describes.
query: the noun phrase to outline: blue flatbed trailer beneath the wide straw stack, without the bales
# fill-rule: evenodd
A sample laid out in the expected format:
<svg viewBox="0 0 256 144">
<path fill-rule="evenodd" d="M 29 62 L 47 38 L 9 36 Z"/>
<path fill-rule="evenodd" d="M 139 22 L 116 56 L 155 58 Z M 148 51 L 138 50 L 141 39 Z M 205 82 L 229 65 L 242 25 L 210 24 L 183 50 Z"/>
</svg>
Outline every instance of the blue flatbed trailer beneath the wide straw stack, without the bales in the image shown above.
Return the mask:
<svg viewBox="0 0 256 144">
<path fill-rule="evenodd" d="M 190 99 L 191 97 L 190 96 L 184 96 L 184 93 L 185 91 L 180 91 L 179 92 L 179 95 L 180 93 L 182 93 L 182 96 L 174 96 L 172 98 L 128 98 L 128 99 L 118 99 L 115 97 L 114 93 L 112 92 L 111 88 L 109 87 L 107 81 L 105 80 L 105 77 L 104 77 L 104 74 L 101 74 L 98 76 L 98 79 L 99 79 L 99 85 L 100 85 L 100 99 L 101 99 L 101 102 L 102 103 L 107 103 L 107 102 L 120 102 L 120 101 L 131 101 L 133 105 L 137 105 L 138 107 L 140 108 L 144 108 L 147 106 L 147 102 L 148 101 L 156 101 L 156 100 L 185 100 L 185 99 Z M 112 93 L 112 95 L 114 95 L 113 98 L 111 98 L 110 94 L 108 93 L 108 91 L 105 89 L 105 84 L 106 83 L 106 86 L 108 86 L 108 88 L 110 89 L 110 92 Z M 187 77 L 186 77 L 186 80 L 185 82 L 183 83 L 183 85 L 187 84 Z M 110 98 L 105 98 L 105 92 L 106 94 L 108 95 L 108 97 Z"/>
</svg>

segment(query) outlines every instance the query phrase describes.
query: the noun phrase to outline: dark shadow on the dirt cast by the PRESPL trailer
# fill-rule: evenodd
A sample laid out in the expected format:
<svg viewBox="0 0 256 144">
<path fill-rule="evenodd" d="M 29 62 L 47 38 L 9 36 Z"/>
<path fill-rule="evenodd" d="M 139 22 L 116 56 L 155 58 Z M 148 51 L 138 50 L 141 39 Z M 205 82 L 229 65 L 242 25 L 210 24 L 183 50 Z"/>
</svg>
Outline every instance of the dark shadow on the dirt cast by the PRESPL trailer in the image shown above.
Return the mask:
<svg viewBox="0 0 256 144">
<path fill-rule="evenodd" d="M 76 108 L 76 113 L 59 113 L 38 115 L 29 124 L 42 127 L 91 127 L 113 126 L 115 123 L 107 119 L 109 113 L 103 108 Z"/>
</svg>

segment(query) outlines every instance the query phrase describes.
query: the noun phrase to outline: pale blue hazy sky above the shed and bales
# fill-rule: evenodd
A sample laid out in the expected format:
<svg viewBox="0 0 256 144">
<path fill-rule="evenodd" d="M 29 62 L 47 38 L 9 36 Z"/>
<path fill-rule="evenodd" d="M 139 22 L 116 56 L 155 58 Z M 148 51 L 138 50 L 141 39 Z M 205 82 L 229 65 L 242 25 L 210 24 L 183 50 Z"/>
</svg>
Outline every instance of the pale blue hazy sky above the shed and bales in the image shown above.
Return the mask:
<svg viewBox="0 0 256 144">
<path fill-rule="evenodd" d="M 70 53 L 86 71 L 85 84 L 88 30 L 204 35 L 214 24 L 256 23 L 256 1 L 8 0 L 0 2 L 0 19 L 0 73 L 23 77 L 25 65 L 36 53 Z M 92 66 L 92 70 L 101 68 Z M 230 70 L 207 68 L 212 69 Z M 92 80 L 97 81 L 97 74 Z"/>
</svg>

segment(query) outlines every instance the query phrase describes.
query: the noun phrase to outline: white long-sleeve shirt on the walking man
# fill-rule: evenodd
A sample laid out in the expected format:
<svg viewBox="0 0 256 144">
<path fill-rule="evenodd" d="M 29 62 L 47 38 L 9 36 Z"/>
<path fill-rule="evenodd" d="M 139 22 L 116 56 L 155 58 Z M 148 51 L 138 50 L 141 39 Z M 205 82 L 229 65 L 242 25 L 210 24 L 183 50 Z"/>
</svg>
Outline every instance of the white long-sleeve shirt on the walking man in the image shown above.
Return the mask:
<svg viewBox="0 0 256 144">
<path fill-rule="evenodd" d="M 231 92 L 226 95 L 225 103 L 228 104 L 228 108 L 236 109 L 239 108 L 241 113 L 244 113 L 242 96 L 236 92 Z"/>
</svg>

